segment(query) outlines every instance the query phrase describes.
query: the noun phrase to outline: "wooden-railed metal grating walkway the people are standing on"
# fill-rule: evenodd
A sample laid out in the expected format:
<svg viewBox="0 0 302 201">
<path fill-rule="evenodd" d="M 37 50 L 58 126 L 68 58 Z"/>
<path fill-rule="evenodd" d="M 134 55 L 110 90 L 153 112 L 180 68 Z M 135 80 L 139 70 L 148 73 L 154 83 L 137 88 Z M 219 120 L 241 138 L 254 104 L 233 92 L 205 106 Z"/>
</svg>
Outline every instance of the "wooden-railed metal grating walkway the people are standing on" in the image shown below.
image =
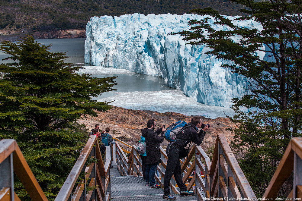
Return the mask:
<svg viewBox="0 0 302 201">
<path fill-rule="evenodd" d="M 155 174 L 155 181 L 161 188 L 151 189 L 145 186 L 142 177 L 142 161 L 136 146 L 130 146 L 117 138 L 114 140 L 119 143 L 112 149 L 108 146 L 102 158 L 97 137 L 91 135 L 55 201 L 164 200 L 162 197 L 163 178 L 167 162 L 165 150 L 160 148 L 161 161 Z M 114 153 L 112 159 L 111 151 Z M 128 154 L 129 158 L 126 156 Z M 98 161 L 85 165 L 88 158 L 95 158 Z M 293 171 L 294 188 L 287 199 L 302 197 L 301 158 L 302 138 L 292 138 L 263 199 L 276 198 L 280 187 Z M 211 161 L 201 146 L 194 144 L 188 158 L 180 159 L 180 162 L 183 181 L 188 190 L 193 190 L 195 195 L 180 197 L 179 188 L 173 176 L 170 189 L 176 200 L 257 199 L 223 134 L 217 135 Z M 111 163 L 114 167 L 112 169 L 110 169 Z M 85 172 L 85 177 L 80 176 L 83 175 L 81 172 Z M 194 172 L 195 174 L 192 174 Z M 3 139 L 0 141 L 0 201 L 20 200 L 14 192 L 14 174 L 23 183 L 32 200 L 48 200 L 16 141 Z"/>
</svg>

